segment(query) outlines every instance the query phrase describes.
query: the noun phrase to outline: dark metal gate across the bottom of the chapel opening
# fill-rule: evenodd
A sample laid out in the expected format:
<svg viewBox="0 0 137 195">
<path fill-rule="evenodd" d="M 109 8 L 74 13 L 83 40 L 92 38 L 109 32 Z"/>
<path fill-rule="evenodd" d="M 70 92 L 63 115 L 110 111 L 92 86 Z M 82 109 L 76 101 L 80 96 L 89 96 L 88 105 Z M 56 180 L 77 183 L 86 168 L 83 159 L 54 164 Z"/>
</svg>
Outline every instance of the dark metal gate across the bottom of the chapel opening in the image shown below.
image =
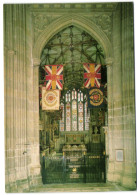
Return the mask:
<svg viewBox="0 0 137 195">
<path fill-rule="evenodd" d="M 42 177 L 44 183 L 105 182 L 105 156 L 47 157 Z"/>
</svg>

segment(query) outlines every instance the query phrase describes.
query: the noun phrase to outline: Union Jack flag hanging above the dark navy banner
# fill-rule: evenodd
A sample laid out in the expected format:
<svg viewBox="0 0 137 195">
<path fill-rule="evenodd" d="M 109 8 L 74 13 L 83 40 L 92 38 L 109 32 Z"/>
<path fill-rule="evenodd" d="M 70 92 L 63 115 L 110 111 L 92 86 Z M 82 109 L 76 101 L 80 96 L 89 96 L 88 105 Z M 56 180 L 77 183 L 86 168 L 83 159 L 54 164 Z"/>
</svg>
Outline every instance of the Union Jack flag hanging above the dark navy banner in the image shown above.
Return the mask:
<svg viewBox="0 0 137 195">
<path fill-rule="evenodd" d="M 84 63 L 84 86 L 85 88 L 100 88 L 101 64 Z"/>
</svg>

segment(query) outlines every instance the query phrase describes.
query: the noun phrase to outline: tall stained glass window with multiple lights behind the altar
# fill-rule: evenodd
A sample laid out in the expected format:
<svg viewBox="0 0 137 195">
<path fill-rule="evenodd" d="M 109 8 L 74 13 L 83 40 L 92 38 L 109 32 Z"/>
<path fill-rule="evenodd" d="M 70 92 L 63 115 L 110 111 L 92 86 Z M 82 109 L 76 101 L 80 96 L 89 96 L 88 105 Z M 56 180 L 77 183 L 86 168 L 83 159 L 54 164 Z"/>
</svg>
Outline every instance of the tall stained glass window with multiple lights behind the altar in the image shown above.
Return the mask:
<svg viewBox="0 0 137 195">
<path fill-rule="evenodd" d="M 62 119 L 60 131 L 87 131 L 89 130 L 90 112 L 87 108 L 86 95 L 81 91 L 67 91 L 65 102 L 61 103 Z"/>
</svg>

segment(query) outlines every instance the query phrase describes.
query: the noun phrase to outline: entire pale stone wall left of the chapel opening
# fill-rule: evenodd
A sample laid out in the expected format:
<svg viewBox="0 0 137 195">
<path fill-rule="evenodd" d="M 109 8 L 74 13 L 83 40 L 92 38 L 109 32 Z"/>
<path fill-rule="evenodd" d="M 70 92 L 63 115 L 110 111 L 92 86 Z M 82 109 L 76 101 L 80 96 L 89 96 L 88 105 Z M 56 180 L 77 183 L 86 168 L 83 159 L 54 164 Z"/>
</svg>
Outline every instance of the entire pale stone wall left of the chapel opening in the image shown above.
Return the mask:
<svg viewBox="0 0 137 195">
<path fill-rule="evenodd" d="M 38 177 L 40 174 L 39 123 L 37 122 L 39 115 L 35 114 L 35 112 L 39 113 L 38 89 L 33 86 L 38 82 L 38 74 L 36 74 L 37 68 L 32 66 L 31 55 L 29 55 L 32 34 L 29 28 L 26 28 L 26 20 L 24 5 L 4 5 L 7 192 L 28 190 L 35 182 L 34 179 L 32 181 L 32 177 Z"/>
</svg>

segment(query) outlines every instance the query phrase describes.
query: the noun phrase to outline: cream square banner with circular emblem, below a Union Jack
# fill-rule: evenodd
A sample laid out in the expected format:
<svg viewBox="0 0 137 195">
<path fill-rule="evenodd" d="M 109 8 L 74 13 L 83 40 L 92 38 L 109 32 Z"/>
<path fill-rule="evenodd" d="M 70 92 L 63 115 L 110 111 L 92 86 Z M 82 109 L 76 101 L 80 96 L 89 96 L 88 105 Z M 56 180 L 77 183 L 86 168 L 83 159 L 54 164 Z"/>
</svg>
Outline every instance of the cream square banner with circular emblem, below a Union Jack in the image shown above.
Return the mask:
<svg viewBox="0 0 137 195">
<path fill-rule="evenodd" d="M 42 110 L 59 110 L 60 91 L 42 87 Z"/>
</svg>

